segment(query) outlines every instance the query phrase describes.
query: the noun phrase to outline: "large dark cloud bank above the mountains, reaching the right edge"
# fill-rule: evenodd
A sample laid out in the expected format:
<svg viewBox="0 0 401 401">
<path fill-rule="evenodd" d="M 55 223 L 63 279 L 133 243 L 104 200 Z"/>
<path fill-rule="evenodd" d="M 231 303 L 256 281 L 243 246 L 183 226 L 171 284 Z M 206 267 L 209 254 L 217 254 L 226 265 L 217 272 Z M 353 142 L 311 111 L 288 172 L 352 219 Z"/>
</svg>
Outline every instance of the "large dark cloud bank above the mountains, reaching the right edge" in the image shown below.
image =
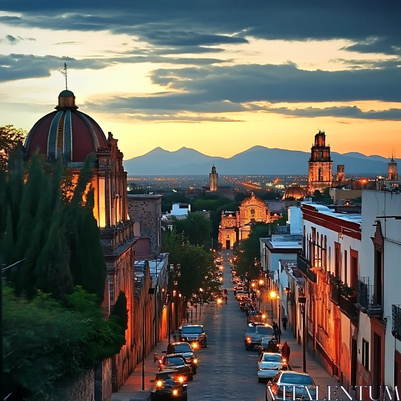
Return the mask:
<svg viewBox="0 0 401 401">
<path fill-rule="evenodd" d="M 171 111 L 224 113 L 265 110 L 305 117 L 337 116 L 398 119 L 398 109 L 362 112 L 356 107 L 273 108 L 258 102 L 305 103 L 363 100 L 401 101 L 401 68 L 305 71 L 293 63 L 154 70 L 152 83 L 165 92 L 112 97 L 86 107 L 119 113 L 170 114 Z"/>
</svg>

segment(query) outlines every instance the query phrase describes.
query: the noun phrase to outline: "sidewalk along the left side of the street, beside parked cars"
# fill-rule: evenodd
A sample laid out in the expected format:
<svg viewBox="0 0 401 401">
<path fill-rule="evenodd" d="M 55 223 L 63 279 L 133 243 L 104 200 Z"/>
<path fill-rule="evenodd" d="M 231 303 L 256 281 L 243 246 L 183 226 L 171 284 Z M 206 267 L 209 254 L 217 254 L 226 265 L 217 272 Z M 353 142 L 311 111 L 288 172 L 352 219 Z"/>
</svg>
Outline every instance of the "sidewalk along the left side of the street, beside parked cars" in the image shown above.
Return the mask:
<svg viewBox="0 0 401 401">
<path fill-rule="evenodd" d="M 204 305 L 199 319 L 198 307 L 197 320 L 195 320 L 195 308 L 193 307 L 193 324 L 202 324 L 205 319 L 205 313 L 207 313 L 209 309 L 209 305 Z M 189 322 L 190 318 L 189 312 Z M 174 341 L 174 335 L 176 335 L 176 338 L 178 339 L 178 331 L 175 331 L 174 334 L 171 333 L 171 342 Z M 152 388 L 152 383 L 150 380 L 154 379 L 154 376 L 158 371 L 157 361 L 154 362 L 154 353 L 162 355 L 162 351 L 167 349 L 167 345 L 168 335 L 166 338 L 160 340 L 159 344 L 157 344 L 149 353 L 149 355 L 145 357 L 145 391 L 142 391 L 142 363 L 139 363 L 118 392 L 112 393 L 112 401 L 147 401 L 150 398 L 150 390 Z"/>
</svg>

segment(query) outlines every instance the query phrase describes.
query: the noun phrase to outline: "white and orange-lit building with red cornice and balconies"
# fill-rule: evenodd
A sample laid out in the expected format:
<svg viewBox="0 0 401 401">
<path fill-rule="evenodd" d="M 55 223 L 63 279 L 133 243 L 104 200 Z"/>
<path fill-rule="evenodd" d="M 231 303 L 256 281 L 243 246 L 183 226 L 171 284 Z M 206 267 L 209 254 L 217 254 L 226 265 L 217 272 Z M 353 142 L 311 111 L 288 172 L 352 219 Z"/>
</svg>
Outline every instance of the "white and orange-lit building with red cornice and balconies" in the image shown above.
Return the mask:
<svg viewBox="0 0 401 401">
<path fill-rule="evenodd" d="M 302 203 L 303 249 L 297 267 L 307 297 L 307 348 L 346 388 L 355 385 L 361 254 L 360 213 Z"/>
</svg>

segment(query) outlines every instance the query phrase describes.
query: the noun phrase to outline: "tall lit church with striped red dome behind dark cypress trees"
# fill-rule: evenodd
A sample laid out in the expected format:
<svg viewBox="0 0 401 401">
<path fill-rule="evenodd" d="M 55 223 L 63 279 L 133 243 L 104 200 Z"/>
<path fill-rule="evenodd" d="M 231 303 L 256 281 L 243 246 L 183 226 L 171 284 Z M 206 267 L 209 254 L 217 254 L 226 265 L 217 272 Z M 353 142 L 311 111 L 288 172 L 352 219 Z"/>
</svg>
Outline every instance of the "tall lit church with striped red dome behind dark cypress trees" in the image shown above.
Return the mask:
<svg viewBox="0 0 401 401">
<path fill-rule="evenodd" d="M 100 228 L 107 267 L 103 306 L 110 312 L 120 291 L 124 291 L 129 305 L 126 344 L 112 361 L 112 388 L 116 391 L 134 367 L 132 304 L 136 238 L 133 224 L 128 220 L 127 173 L 117 139 L 111 132 L 106 137 L 93 118 L 77 109 L 74 93 L 62 91 L 56 111 L 42 117 L 29 132 L 25 155 L 29 158 L 38 152 L 49 161 L 62 157 L 73 180 L 78 179 L 86 157 L 95 155 L 91 181 L 95 195 L 93 213 Z"/>
</svg>

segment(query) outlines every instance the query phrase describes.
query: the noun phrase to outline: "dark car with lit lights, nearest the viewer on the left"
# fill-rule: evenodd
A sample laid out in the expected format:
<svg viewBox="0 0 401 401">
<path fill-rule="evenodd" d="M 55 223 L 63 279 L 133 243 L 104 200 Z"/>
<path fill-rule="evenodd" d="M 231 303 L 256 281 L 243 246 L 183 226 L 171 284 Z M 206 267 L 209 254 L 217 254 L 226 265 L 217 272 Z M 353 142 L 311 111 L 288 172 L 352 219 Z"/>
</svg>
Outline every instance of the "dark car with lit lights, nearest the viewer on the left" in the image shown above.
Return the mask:
<svg viewBox="0 0 401 401">
<path fill-rule="evenodd" d="M 183 378 L 176 377 L 174 370 L 164 370 L 156 373 L 153 383 L 152 391 L 150 392 L 151 401 L 163 401 L 165 399 L 179 399 L 180 401 L 187 401 L 187 384 L 184 383 Z"/>
</svg>

